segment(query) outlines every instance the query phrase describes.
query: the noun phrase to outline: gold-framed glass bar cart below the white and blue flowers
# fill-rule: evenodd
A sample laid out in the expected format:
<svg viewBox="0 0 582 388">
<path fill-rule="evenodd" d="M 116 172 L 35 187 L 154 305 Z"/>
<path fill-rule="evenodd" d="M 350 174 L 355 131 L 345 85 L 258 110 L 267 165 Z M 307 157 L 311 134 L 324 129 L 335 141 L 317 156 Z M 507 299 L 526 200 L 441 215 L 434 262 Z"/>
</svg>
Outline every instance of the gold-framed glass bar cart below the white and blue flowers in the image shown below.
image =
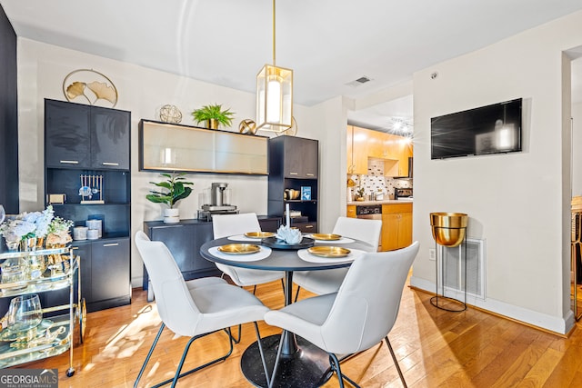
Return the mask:
<svg viewBox="0 0 582 388">
<path fill-rule="evenodd" d="M 0 298 L 51 293 L 68 288 L 69 301 L 62 305 L 42 307 L 41 323 L 25 332 L 11 330 L 11 327 L 15 326 L 6 326 L 6 320 L 9 320 L 6 313 L 2 318 L 3 329 L 0 331 L 0 368 L 30 363 L 68 350 L 70 356 L 66 375 L 71 377 L 75 373 L 73 367 L 75 321 L 78 320 L 79 323 L 81 343 L 86 327 L 85 300 L 81 297 L 79 275 L 80 257 L 75 257 L 71 247 L 25 252 L 0 251 L 0 263 L 5 264 L 7 260 L 24 260 L 24 263 L 32 264 L 30 268 L 35 268 L 36 272 L 29 270 L 25 276 L 16 281 L 3 274 L 0 278 Z"/>
</svg>

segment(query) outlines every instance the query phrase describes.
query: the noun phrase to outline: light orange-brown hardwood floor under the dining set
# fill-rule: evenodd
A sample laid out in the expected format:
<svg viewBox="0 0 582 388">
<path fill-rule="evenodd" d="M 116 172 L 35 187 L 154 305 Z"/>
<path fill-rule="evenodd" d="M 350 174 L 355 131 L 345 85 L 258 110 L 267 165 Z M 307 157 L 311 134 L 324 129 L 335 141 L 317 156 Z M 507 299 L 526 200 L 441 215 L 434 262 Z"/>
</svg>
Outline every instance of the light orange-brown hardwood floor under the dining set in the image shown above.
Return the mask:
<svg viewBox="0 0 582 388">
<path fill-rule="evenodd" d="M 256 294 L 270 308 L 283 305 L 278 282 L 258 286 Z M 438 310 L 430 296 L 405 287 L 389 334 L 408 386 L 582 387 L 582 323 L 563 338 L 471 308 L 463 313 Z M 58 368 L 61 388 L 131 387 L 159 323 L 156 304 L 147 303 L 146 293 L 137 289 L 131 305 L 89 313 L 85 343 L 78 344 L 75 337 L 74 376 L 65 375 L 68 353 L 21 367 Z M 265 323 L 259 327 L 263 336 L 279 332 Z M 243 339 L 226 362 L 180 379 L 178 386 L 252 386 L 240 372 L 240 356 L 254 341 L 252 325 L 243 326 Z M 140 386 L 171 377 L 185 343 L 166 329 Z M 185 368 L 226 350 L 226 334 L 209 335 L 194 343 Z M 363 387 L 402 386 L 386 344 L 347 360 L 342 370 Z M 324 386 L 338 386 L 336 376 Z"/>
</svg>

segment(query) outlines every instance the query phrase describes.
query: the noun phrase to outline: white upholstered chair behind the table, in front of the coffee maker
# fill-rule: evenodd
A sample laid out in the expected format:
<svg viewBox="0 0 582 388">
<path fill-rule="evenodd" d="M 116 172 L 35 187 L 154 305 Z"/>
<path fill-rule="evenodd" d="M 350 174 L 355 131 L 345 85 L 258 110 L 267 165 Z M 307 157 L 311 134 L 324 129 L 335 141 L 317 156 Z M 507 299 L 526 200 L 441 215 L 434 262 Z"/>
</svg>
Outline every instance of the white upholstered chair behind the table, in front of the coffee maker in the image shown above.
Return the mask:
<svg viewBox="0 0 582 388">
<path fill-rule="evenodd" d="M 228 237 L 247 232 L 260 232 L 261 225 L 255 213 L 216 214 L 212 216 L 212 228 L 216 238 Z M 235 243 L 235 242 L 233 242 Z M 216 267 L 230 276 L 239 286 L 265 284 L 275 280 L 283 280 L 285 273 L 281 271 L 261 271 L 248 268 L 235 268 L 230 265 L 216 263 Z M 255 291 L 253 291 L 255 293 Z"/>
</svg>

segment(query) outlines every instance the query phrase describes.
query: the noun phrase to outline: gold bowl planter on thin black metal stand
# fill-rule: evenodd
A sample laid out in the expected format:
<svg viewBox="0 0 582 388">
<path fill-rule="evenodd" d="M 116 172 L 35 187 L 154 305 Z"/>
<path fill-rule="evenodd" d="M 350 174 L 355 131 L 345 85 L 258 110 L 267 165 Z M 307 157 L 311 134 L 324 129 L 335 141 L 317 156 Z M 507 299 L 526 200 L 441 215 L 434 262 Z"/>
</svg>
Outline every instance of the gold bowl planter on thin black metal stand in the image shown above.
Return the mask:
<svg viewBox="0 0 582 388">
<path fill-rule="evenodd" d="M 435 260 L 435 269 L 437 274 L 437 292 L 435 296 L 430 298 L 430 303 L 435 307 L 446 310 L 448 312 L 460 313 L 467 310 L 467 214 L 464 213 L 431 213 L 430 225 L 432 228 L 433 237 L 435 239 L 435 253 L 437 254 Z M 446 246 L 447 248 L 459 248 L 459 257 L 465 258 L 465 271 L 463 274 L 463 301 L 445 295 L 445 278 L 446 265 L 445 258 L 439 257 L 438 245 Z M 463 250 L 463 247 L 465 248 Z M 463 255 L 463 251 L 465 254 Z M 440 260 L 439 260 L 440 259 Z M 440 274 L 442 275 L 442 284 L 440 284 L 439 293 L 439 262 Z"/>
</svg>

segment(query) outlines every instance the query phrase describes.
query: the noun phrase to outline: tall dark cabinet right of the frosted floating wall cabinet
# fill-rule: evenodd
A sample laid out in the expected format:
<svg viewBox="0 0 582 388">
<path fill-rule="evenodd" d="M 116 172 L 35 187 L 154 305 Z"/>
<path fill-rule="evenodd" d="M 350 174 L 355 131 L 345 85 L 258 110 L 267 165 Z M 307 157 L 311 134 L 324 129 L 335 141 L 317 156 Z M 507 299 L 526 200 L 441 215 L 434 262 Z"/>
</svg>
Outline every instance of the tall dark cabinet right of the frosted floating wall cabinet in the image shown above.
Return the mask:
<svg viewBox="0 0 582 388">
<path fill-rule="evenodd" d="M 316 140 L 295 136 L 278 136 L 269 139 L 268 214 L 285 219 L 286 204 L 290 212 L 301 212 L 292 217 L 292 226 L 304 233 L 317 232 L 317 192 L 319 176 L 319 143 Z M 285 198 L 286 189 L 309 188 L 309 199 L 300 195 Z M 305 190 L 305 189 L 304 189 Z"/>
</svg>

